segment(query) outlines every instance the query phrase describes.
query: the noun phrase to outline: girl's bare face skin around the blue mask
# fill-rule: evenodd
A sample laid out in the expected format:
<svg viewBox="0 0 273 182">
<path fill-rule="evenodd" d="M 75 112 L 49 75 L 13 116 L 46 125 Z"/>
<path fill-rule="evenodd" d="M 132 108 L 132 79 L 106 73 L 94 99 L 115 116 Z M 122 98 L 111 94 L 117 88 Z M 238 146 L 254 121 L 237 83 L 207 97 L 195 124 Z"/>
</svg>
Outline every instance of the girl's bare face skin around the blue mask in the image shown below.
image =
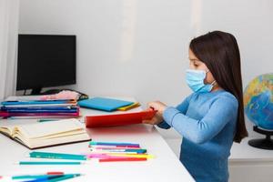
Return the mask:
<svg viewBox="0 0 273 182">
<path fill-rule="evenodd" d="M 197 56 L 195 56 L 190 48 L 188 49 L 188 59 L 190 69 L 204 70 L 206 72 L 208 71 L 206 74 L 206 78 L 204 79 L 204 84 L 211 84 L 215 80 L 207 66 L 202 61 L 200 61 Z"/>
</svg>

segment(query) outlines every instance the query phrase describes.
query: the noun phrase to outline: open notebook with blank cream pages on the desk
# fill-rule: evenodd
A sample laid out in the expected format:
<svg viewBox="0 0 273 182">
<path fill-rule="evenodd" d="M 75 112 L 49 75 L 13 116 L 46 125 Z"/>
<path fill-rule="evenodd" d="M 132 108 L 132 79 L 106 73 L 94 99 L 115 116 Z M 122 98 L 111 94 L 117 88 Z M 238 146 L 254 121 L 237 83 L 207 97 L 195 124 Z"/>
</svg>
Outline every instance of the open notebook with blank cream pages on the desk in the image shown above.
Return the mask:
<svg viewBox="0 0 273 182">
<path fill-rule="evenodd" d="M 1 126 L 0 132 L 30 149 L 88 141 L 85 127 L 75 118 L 43 123 Z"/>
</svg>

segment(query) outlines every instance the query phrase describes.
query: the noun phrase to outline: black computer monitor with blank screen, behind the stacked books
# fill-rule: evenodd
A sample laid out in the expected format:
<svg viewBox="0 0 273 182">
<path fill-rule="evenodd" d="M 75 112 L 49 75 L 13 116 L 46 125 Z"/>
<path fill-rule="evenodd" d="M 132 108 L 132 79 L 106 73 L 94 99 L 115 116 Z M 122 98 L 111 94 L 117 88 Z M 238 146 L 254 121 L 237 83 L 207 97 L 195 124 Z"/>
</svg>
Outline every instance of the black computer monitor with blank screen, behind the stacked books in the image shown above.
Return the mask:
<svg viewBox="0 0 273 182">
<path fill-rule="evenodd" d="M 76 84 L 76 35 L 18 35 L 16 90 Z"/>
</svg>

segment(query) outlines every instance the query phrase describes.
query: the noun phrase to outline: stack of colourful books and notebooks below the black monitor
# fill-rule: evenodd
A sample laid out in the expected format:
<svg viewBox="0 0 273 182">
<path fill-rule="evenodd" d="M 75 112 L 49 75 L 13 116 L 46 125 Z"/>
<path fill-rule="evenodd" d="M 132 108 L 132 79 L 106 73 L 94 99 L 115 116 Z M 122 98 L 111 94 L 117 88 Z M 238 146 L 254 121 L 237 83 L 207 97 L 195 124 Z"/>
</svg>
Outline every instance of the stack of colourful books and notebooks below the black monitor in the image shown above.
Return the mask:
<svg viewBox="0 0 273 182">
<path fill-rule="evenodd" d="M 76 100 L 15 100 L 1 103 L 0 116 L 12 118 L 67 118 L 79 116 Z"/>
</svg>

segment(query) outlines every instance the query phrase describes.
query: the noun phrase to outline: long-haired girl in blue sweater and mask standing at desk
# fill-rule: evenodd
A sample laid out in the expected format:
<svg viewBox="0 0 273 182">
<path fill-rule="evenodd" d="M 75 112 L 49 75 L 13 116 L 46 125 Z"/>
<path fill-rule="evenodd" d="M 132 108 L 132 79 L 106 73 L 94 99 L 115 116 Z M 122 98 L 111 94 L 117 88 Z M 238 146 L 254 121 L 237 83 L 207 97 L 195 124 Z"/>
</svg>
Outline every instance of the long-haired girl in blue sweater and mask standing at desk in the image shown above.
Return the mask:
<svg viewBox="0 0 273 182">
<path fill-rule="evenodd" d="M 183 136 L 180 161 L 197 181 L 228 181 L 233 141 L 248 136 L 236 38 L 214 31 L 189 44 L 187 85 L 193 94 L 177 107 L 148 103 L 157 115 L 144 123 L 174 127 Z"/>
</svg>

